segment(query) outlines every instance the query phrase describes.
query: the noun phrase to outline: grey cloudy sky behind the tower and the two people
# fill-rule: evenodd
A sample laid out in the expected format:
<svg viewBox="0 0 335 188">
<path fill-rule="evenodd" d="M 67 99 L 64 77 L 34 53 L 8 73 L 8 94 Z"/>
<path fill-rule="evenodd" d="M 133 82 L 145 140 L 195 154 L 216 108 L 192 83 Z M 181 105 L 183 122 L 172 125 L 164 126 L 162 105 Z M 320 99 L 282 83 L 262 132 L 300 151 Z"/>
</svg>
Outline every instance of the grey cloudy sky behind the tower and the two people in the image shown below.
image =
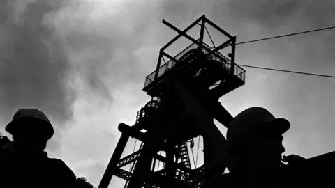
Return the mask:
<svg viewBox="0 0 335 188">
<path fill-rule="evenodd" d="M 333 0 L 0 0 L 0 130 L 20 107 L 45 111 L 56 130 L 50 157 L 98 186 L 120 136 L 117 125 L 135 122 L 149 100 L 144 77 L 176 35 L 162 19 L 184 29 L 206 14 L 242 42 L 333 26 L 334 8 Z M 334 32 L 239 45 L 236 61 L 335 75 Z M 335 149 L 335 79 L 246 71 L 246 85 L 221 98 L 233 116 L 260 106 L 288 118 L 287 154 Z"/>
</svg>

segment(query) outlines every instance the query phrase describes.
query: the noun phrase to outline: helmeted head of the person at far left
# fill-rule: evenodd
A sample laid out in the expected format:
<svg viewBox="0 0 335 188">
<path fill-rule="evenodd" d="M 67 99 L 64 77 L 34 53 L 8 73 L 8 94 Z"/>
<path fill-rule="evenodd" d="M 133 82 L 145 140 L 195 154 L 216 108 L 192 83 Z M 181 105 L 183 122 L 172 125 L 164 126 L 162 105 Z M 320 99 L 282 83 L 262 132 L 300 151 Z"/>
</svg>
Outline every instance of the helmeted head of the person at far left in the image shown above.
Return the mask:
<svg viewBox="0 0 335 188">
<path fill-rule="evenodd" d="M 6 131 L 13 135 L 15 150 L 27 153 L 43 152 L 54 134 L 49 119 L 38 109 L 19 109 Z"/>
</svg>

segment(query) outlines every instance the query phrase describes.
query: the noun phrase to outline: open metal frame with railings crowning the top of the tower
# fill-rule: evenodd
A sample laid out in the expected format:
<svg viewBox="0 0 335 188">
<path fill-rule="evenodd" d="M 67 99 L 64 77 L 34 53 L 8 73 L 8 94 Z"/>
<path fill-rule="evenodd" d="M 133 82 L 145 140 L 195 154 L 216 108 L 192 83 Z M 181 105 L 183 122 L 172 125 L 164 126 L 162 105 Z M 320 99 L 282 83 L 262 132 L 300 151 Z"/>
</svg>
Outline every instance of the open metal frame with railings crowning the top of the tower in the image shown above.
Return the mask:
<svg viewBox="0 0 335 188">
<path fill-rule="evenodd" d="M 165 80 L 167 77 L 170 77 L 170 74 L 172 72 L 178 69 L 178 64 L 180 64 L 179 62 L 180 62 L 181 57 L 188 54 L 194 49 L 200 49 L 207 56 L 207 58 L 218 61 L 218 63 L 221 63 L 223 68 L 225 68 L 231 75 L 234 75 L 235 77 L 238 78 L 236 82 L 240 81 L 240 86 L 244 84 L 245 70 L 241 68 L 239 65 L 236 65 L 234 62 L 235 61 L 234 60 L 235 45 L 236 45 L 235 36 L 231 36 L 229 33 L 227 33 L 226 31 L 221 29 L 219 26 L 211 22 L 209 19 L 207 19 L 205 15 L 202 15 L 202 17 L 200 17 L 195 22 L 193 22 L 190 26 L 184 29 L 184 31 L 177 29 L 177 27 L 173 26 L 169 22 L 166 22 L 165 20 L 163 20 L 163 24 L 169 26 L 174 31 L 177 31 L 178 35 L 161 48 L 159 55 L 158 55 L 158 63 L 156 65 L 156 70 L 146 77 L 143 90 L 146 91 L 148 95 L 157 96 L 158 93 L 160 93 L 160 91 L 153 91 L 151 89 L 159 88 L 157 87 L 157 85 L 161 84 L 163 80 Z M 190 29 L 192 29 L 194 26 L 196 26 L 197 24 L 200 25 L 200 37 L 198 38 L 198 40 L 195 40 L 194 38 L 189 36 L 187 32 Z M 209 45 L 205 44 L 203 41 L 204 29 L 206 28 L 206 24 L 209 24 L 213 26 L 214 29 L 217 29 L 218 31 L 220 31 L 222 36 L 224 38 L 228 38 L 228 40 L 223 42 L 221 45 L 218 45 L 218 47 L 211 49 Z M 184 36 L 188 40 L 191 40 L 192 42 L 191 45 L 186 47 L 186 49 L 181 51 L 176 56 L 171 56 L 170 54 L 166 53 L 165 49 L 170 47 L 170 45 L 172 45 L 172 43 L 178 40 L 181 36 Z M 230 57 L 226 57 L 218 53 L 221 49 L 226 48 L 226 47 L 231 47 Z M 161 61 L 162 59 L 165 59 L 164 57 L 167 57 L 169 61 L 162 65 Z M 227 75 L 230 75 L 230 74 L 227 74 Z M 234 90 L 234 88 L 231 88 L 225 93 L 228 93 L 232 90 Z M 225 93 L 223 93 L 223 95 Z M 222 94 L 220 96 L 222 96 Z"/>
</svg>

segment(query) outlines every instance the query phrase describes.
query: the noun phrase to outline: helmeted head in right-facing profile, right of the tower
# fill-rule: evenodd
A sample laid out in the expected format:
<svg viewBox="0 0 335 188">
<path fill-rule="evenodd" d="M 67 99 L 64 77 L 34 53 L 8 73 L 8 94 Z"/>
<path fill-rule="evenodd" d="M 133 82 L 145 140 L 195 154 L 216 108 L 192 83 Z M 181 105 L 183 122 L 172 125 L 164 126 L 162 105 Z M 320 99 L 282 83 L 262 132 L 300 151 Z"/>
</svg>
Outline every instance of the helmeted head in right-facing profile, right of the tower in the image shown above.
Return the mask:
<svg viewBox="0 0 335 188">
<path fill-rule="evenodd" d="M 230 171 L 253 168 L 275 171 L 281 165 L 283 134 L 290 128 L 288 120 L 274 118 L 261 107 L 239 113 L 227 131 Z"/>
</svg>

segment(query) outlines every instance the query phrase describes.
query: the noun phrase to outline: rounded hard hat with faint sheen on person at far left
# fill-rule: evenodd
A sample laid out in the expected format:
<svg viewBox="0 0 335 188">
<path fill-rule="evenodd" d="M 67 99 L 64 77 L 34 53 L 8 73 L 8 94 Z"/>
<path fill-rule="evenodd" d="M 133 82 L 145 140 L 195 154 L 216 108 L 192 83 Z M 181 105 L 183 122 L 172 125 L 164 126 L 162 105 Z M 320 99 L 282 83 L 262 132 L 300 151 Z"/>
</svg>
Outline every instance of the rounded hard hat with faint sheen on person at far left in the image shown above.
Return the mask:
<svg viewBox="0 0 335 188">
<path fill-rule="evenodd" d="M 22 123 L 22 120 L 34 120 L 34 123 L 29 127 Z M 38 109 L 19 109 L 13 116 L 13 120 L 8 123 L 5 130 L 12 135 L 20 132 L 27 128 L 35 128 L 38 133 L 41 134 L 45 139 L 50 139 L 54 134 L 54 128 L 52 127 L 50 120 L 45 114 Z"/>
</svg>

